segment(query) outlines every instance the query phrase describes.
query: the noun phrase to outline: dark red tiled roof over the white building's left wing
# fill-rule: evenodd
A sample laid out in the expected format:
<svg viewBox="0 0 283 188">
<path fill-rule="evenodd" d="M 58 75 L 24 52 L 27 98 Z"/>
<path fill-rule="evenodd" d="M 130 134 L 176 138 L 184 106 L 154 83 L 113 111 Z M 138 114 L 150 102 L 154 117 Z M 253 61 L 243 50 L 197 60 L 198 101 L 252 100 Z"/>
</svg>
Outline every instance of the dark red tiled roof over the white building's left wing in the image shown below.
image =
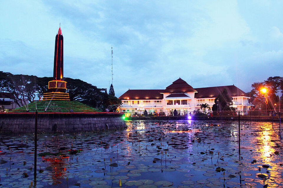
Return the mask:
<svg viewBox="0 0 283 188">
<path fill-rule="evenodd" d="M 134 99 L 163 99 L 163 94 L 160 94 L 161 89 L 131 89 L 126 91 L 119 97 L 121 100 L 134 100 Z"/>
</svg>

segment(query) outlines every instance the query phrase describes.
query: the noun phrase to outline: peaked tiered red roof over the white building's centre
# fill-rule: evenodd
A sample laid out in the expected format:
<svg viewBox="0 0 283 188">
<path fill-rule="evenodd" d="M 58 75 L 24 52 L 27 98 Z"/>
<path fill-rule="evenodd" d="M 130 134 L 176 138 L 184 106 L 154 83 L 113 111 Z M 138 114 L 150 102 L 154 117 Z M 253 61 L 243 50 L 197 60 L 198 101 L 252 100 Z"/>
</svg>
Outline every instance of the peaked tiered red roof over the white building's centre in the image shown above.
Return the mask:
<svg viewBox="0 0 283 188">
<path fill-rule="evenodd" d="M 192 88 L 185 80 L 181 78 L 175 80 L 171 85 L 166 87 L 162 93 L 183 93 L 183 92 L 195 92 L 196 90 Z"/>
</svg>

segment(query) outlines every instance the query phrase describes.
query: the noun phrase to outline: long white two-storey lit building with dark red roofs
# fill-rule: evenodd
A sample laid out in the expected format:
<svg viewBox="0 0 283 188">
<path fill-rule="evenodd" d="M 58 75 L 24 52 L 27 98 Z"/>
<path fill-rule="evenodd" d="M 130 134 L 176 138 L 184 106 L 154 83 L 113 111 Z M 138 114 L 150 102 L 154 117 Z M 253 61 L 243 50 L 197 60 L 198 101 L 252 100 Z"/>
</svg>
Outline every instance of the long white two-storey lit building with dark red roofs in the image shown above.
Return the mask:
<svg viewBox="0 0 283 188">
<path fill-rule="evenodd" d="M 192 88 L 187 82 L 179 78 L 162 90 L 128 90 L 121 95 L 121 112 L 142 113 L 144 110 L 152 113 L 164 112 L 165 115 L 172 114 L 177 110 L 179 115 L 192 113 L 194 110 L 200 110 L 201 104 L 207 103 L 210 108 L 214 104 L 215 97 L 226 89 L 228 95 L 233 97 L 233 107 L 236 110 L 249 110 L 252 104 L 248 102 L 250 98 L 235 85 Z"/>
</svg>

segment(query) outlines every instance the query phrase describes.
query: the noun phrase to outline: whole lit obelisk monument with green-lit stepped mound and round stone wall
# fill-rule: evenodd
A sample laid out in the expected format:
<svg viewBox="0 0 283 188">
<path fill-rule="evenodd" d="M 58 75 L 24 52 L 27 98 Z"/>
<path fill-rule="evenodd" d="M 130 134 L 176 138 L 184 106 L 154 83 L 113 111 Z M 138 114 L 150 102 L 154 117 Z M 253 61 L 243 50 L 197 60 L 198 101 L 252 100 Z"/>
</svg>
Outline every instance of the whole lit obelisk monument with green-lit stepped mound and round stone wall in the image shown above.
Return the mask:
<svg viewBox="0 0 283 188">
<path fill-rule="evenodd" d="M 102 112 L 77 101 L 70 101 L 63 77 L 63 35 L 61 28 L 55 37 L 53 80 L 40 101 L 34 101 L 11 113 L 1 113 L 3 132 L 33 132 L 34 116 L 38 113 L 38 131 L 95 131 L 125 126 L 123 113 Z"/>
</svg>

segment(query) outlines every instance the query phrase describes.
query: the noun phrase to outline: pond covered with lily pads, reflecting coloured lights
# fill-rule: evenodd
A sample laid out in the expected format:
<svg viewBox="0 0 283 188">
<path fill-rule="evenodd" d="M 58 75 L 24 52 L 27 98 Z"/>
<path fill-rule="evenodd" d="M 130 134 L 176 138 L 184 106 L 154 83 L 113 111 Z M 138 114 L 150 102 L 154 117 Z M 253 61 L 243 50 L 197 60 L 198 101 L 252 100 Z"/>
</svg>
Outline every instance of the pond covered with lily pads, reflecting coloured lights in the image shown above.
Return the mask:
<svg viewBox="0 0 283 188">
<path fill-rule="evenodd" d="M 0 187 L 282 187 L 279 125 L 127 121 L 124 130 L 0 135 Z M 36 186 L 35 186 L 36 184 Z"/>
</svg>

